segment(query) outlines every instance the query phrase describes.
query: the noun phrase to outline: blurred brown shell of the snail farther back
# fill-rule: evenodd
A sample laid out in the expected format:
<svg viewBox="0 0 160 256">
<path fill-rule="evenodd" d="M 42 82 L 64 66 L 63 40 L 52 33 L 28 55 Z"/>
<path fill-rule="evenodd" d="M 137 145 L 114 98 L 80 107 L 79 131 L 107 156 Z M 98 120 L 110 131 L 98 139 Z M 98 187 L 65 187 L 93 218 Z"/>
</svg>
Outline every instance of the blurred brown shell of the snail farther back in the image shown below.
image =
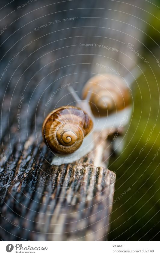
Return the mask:
<svg viewBox="0 0 160 256">
<path fill-rule="evenodd" d="M 108 115 L 130 104 L 130 93 L 122 79 L 112 74 L 95 75 L 83 88 L 83 99 L 91 93 L 89 102 L 94 115 Z"/>
</svg>

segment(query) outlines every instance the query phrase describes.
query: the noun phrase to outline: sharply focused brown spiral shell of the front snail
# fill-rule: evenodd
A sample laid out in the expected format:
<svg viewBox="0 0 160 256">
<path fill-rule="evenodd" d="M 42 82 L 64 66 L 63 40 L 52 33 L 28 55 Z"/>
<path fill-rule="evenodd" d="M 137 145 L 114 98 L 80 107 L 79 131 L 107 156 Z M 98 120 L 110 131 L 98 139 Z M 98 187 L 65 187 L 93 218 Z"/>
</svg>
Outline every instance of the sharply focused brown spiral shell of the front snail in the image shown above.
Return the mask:
<svg viewBox="0 0 160 256">
<path fill-rule="evenodd" d="M 85 111 L 74 106 L 62 106 L 46 117 L 42 136 L 52 151 L 70 154 L 81 146 L 84 137 L 92 128 L 92 119 Z"/>
</svg>

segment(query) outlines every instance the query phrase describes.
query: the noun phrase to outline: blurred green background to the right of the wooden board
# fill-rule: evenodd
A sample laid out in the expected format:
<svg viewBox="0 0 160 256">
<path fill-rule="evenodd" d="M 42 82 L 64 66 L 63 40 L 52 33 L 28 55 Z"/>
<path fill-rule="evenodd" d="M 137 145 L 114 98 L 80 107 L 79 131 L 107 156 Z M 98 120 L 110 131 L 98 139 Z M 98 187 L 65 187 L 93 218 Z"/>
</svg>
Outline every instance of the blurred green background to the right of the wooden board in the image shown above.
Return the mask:
<svg viewBox="0 0 160 256">
<path fill-rule="evenodd" d="M 114 199 L 127 188 L 131 190 L 113 204 L 108 240 L 156 241 L 160 237 L 160 152 L 152 160 L 160 147 L 160 67 L 156 62 L 156 58 L 160 61 L 156 45 L 160 41 L 160 1 L 155 4 L 151 10 L 153 15 L 148 14 L 150 26 L 147 25 L 143 47 L 143 56 L 149 65 L 145 65 L 138 85 L 133 85 L 133 117 L 125 135 L 124 150 L 121 155 L 114 154 L 109 162 L 109 169 L 116 172 Z M 154 124 L 152 136 L 145 145 Z M 144 145 L 146 148 L 139 154 Z"/>
</svg>

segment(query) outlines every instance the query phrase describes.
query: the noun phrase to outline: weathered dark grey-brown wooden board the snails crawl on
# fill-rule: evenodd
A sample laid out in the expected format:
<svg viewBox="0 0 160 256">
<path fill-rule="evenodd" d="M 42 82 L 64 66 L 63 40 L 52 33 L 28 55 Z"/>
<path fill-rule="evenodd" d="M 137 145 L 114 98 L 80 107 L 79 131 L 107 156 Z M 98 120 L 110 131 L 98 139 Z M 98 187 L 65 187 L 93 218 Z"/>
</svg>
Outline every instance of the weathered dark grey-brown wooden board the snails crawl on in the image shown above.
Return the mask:
<svg viewBox="0 0 160 256">
<path fill-rule="evenodd" d="M 67 86 L 61 85 L 72 84 L 81 96 L 85 82 L 105 71 L 96 63 L 114 67 L 123 76 L 135 65 L 124 53 L 130 56 L 127 43 L 138 47 L 143 38 L 136 17 L 144 17 L 144 1 L 134 1 L 140 8 L 103 0 L 55 2 L 45 1 L 44 6 L 37 1 L 18 10 L 22 3 L 14 1 L 0 10 L 2 27 L 8 26 L 0 37 L 1 74 L 14 58 L 0 81 L 0 238 L 5 241 L 106 240 L 109 227 L 107 206 L 115 182 L 115 174 L 105 168 L 110 141 L 103 139 L 95 150 L 96 155 L 102 150 L 102 161 L 89 155 L 54 167 L 41 128 L 55 107 L 74 104 Z M 5 4 L 1 1 L 1 7 Z M 68 17 L 78 18 L 48 24 Z M 48 25 L 39 29 L 43 24 Z M 105 44 L 118 52 L 80 43 Z M 102 162 L 104 166 L 97 167 Z"/>
</svg>

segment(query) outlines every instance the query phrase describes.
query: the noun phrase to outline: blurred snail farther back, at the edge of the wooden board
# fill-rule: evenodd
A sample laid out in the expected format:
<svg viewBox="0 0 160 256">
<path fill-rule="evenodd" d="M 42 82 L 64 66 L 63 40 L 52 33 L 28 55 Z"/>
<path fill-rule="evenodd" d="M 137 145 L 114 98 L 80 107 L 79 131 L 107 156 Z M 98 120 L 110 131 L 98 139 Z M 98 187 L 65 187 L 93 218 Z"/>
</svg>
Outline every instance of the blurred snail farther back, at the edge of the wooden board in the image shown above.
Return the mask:
<svg viewBox="0 0 160 256">
<path fill-rule="evenodd" d="M 94 114 L 95 131 L 113 128 L 118 134 L 128 124 L 132 113 L 131 88 L 128 85 L 131 86 L 141 74 L 142 69 L 137 65 L 123 79 L 113 74 L 96 74 L 87 81 L 82 98 L 88 98 Z M 113 141 L 114 150 L 121 151 L 124 141 L 122 135 L 116 138 Z"/>
</svg>

